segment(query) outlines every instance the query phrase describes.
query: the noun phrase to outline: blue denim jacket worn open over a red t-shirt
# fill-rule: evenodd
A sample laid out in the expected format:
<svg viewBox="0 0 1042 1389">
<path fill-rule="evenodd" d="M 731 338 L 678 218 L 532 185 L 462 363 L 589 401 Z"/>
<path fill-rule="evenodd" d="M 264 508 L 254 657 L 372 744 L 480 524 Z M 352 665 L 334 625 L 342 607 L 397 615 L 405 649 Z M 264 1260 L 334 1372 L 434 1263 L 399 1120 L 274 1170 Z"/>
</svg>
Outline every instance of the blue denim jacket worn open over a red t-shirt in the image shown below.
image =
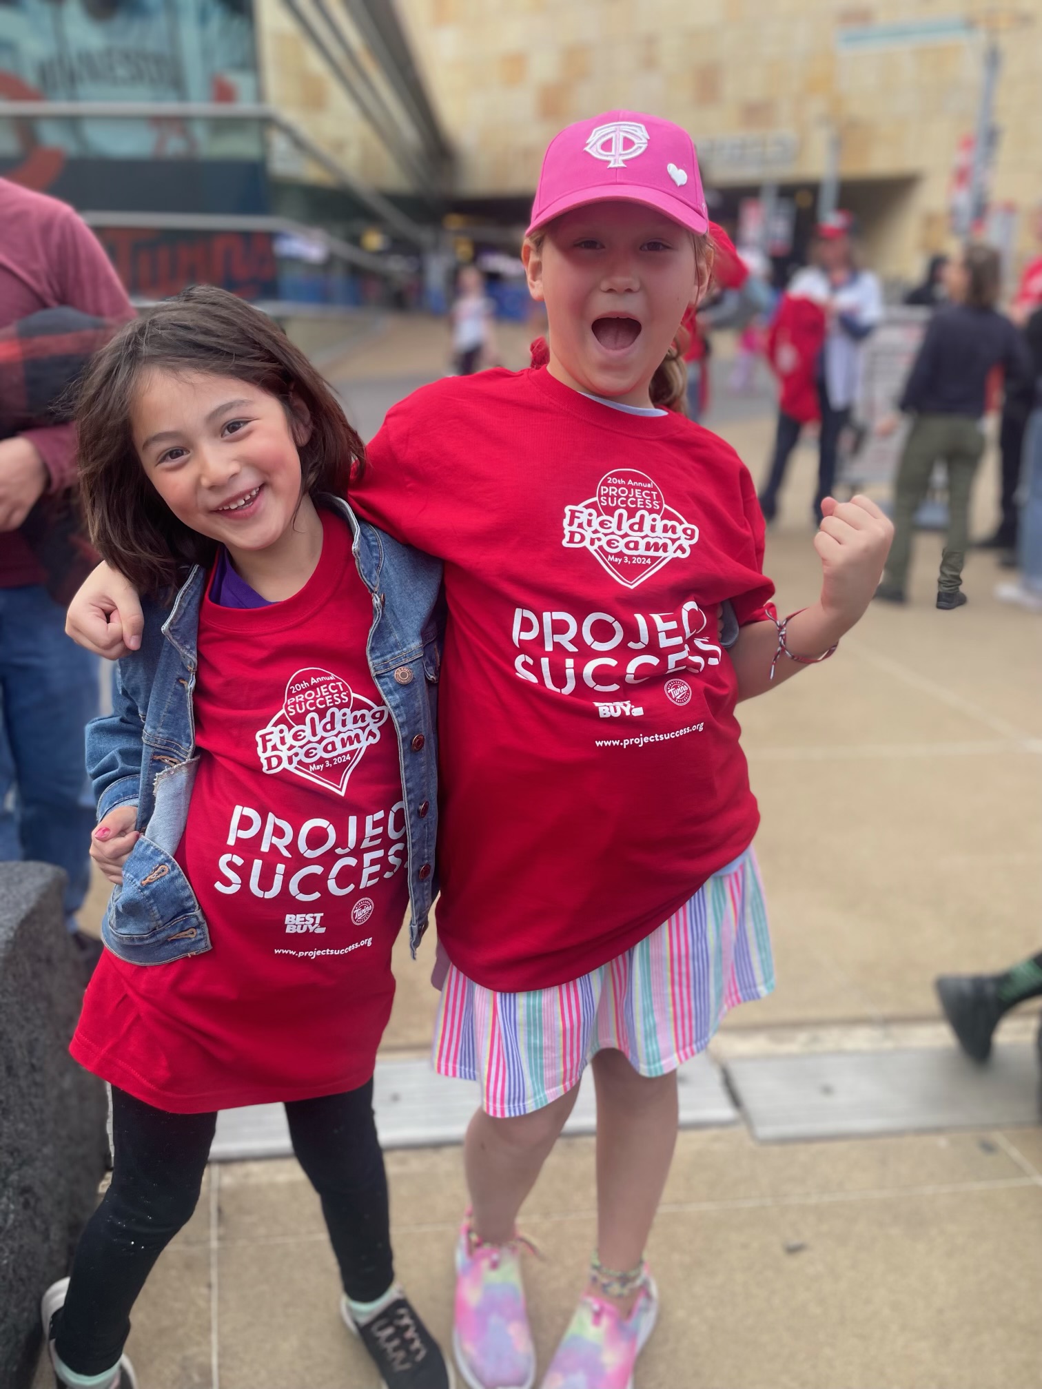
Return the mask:
<svg viewBox="0 0 1042 1389">
<path fill-rule="evenodd" d="M 365 649 L 397 733 L 415 956 L 436 895 L 442 564 L 358 521 L 346 501 L 324 501 L 346 517 L 358 574 L 372 594 Z M 101 922 L 106 946 L 132 964 L 165 964 L 211 947 L 210 928 L 174 858 L 199 767 L 192 692 L 206 582 L 206 569 L 196 565 L 172 604 L 144 600 L 142 646 L 118 663 L 115 707 L 86 732 L 99 818 L 115 806 L 138 807 L 142 836 Z"/>
</svg>

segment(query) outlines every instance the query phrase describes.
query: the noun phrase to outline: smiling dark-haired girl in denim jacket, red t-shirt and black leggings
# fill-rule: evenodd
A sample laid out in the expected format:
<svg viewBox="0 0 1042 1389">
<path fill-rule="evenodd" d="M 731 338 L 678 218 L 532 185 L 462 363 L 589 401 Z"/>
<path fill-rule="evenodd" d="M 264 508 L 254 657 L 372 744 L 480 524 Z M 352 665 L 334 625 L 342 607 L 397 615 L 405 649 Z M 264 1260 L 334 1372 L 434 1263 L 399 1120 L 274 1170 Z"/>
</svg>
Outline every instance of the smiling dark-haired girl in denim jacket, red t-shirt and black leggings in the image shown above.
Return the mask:
<svg viewBox="0 0 1042 1389">
<path fill-rule="evenodd" d="M 197 288 L 94 360 L 92 536 L 143 594 L 88 732 L 115 885 L 72 1054 L 113 1092 L 114 1171 L 44 1296 L 58 1385 L 128 1389 L 129 1313 L 199 1199 L 217 1110 L 286 1101 L 382 1381 L 449 1368 L 395 1282 L 372 1071 L 433 890 L 440 565 L 356 521 L 363 446 L 263 314 Z"/>
</svg>

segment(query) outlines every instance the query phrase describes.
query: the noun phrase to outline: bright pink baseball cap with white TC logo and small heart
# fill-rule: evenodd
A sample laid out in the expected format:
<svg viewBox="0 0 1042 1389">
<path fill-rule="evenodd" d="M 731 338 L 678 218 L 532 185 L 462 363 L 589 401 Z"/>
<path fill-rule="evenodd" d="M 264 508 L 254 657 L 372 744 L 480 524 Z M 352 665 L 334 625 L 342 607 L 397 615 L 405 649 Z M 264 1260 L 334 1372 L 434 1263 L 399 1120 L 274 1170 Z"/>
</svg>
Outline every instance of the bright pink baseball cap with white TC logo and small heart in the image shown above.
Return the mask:
<svg viewBox="0 0 1042 1389">
<path fill-rule="evenodd" d="M 643 203 L 692 232 L 709 229 L 699 158 L 686 131 L 636 111 L 568 125 L 543 156 L 528 233 L 586 203 Z"/>
</svg>

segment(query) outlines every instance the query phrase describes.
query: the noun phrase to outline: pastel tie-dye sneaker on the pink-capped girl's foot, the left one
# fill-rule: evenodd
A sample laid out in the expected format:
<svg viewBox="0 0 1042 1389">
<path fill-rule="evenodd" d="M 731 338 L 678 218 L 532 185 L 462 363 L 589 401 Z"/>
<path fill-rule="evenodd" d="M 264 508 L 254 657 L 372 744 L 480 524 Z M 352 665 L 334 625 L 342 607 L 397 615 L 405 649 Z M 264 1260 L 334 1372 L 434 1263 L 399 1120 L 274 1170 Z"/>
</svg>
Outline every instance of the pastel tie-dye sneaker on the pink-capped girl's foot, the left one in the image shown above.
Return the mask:
<svg viewBox="0 0 1042 1389">
<path fill-rule="evenodd" d="M 521 1236 L 482 1245 L 470 1211 L 456 1246 L 453 1351 L 470 1389 L 532 1389 L 535 1347 L 521 1282 Z"/>
</svg>

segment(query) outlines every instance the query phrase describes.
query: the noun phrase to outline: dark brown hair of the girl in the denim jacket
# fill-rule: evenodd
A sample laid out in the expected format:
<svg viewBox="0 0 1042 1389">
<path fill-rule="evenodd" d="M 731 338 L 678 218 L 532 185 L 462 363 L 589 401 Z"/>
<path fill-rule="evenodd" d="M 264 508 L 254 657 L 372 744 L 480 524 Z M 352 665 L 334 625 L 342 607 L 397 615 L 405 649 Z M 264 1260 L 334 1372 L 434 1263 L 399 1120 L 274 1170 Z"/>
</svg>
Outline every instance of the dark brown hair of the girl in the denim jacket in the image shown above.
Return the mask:
<svg viewBox="0 0 1042 1389">
<path fill-rule="evenodd" d="M 203 371 L 249 382 L 282 401 L 290 419 L 310 417 L 299 446 L 301 496 L 346 496 L 364 444 L 329 386 L 260 310 L 211 285 L 195 285 L 138 318 L 92 360 L 76 392 L 79 483 L 90 539 L 143 593 L 169 593 L 193 564 L 210 564 L 217 542 L 179 521 L 142 467 L 131 410 L 144 372 Z"/>
</svg>

